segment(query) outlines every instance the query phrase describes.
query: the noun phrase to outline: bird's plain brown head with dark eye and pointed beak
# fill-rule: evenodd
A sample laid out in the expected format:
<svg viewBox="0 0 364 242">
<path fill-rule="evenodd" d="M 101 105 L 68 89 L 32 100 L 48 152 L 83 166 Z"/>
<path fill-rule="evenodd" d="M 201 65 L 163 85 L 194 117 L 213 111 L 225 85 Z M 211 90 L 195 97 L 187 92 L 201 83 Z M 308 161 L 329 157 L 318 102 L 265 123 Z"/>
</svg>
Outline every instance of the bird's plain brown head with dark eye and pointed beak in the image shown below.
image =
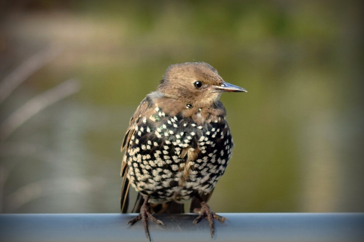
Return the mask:
<svg viewBox="0 0 364 242">
<path fill-rule="evenodd" d="M 222 92 L 246 92 L 244 88 L 225 82 L 217 70 L 205 62 L 169 66 L 158 90 L 165 97 L 199 108 L 216 103 Z"/>
</svg>

